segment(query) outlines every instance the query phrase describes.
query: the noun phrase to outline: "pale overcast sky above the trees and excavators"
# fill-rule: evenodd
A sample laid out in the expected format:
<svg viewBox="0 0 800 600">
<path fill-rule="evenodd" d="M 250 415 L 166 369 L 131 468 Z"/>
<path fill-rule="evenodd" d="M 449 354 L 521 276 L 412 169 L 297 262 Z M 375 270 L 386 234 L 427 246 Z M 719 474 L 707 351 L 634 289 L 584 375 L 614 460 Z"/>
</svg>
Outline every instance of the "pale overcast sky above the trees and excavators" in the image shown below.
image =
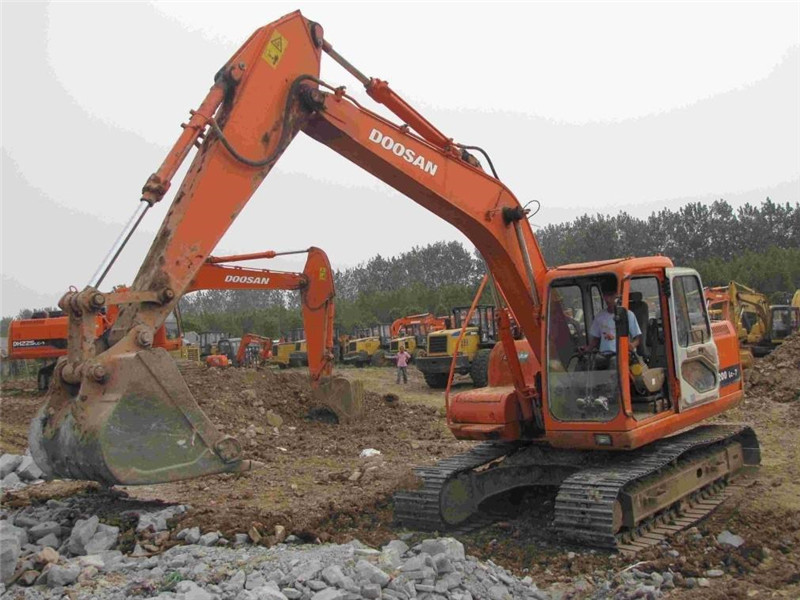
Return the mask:
<svg viewBox="0 0 800 600">
<path fill-rule="evenodd" d="M 542 202 L 535 223 L 800 200 L 798 2 L 0 6 L 3 315 L 86 284 L 217 69 L 298 7 L 361 71 L 487 149 L 521 201 Z M 327 57 L 322 76 L 374 106 Z M 104 287 L 132 281 L 171 199 Z M 465 241 L 298 136 L 216 253 L 316 245 L 343 268 L 450 239 Z"/>
</svg>

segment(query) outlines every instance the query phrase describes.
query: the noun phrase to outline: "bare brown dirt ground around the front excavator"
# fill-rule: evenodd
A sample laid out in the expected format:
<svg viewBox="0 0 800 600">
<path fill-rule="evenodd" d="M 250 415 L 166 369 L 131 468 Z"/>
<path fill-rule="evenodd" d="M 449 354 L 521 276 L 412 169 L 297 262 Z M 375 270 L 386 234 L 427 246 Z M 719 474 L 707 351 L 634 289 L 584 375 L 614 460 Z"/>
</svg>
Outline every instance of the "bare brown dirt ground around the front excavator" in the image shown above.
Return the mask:
<svg viewBox="0 0 800 600">
<path fill-rule="evenodd" d="M 249 457 L 265 464 L 245 474 L 124 488 L 141 500 L 189 504 L 179 523 L 231 536 L 253 528 L 270 543 L 275 525 L 308 540 L 373 546 L 394 539 L 394 490 L 413 485 L 411 467 L 462 452 L 469 443 L 452 438 L 445 425 L 444 395 L 431 390 L 414 368 L 397 385 L 394 369 L 341 369 L 367 390 L 362 419 L 346 424 L 309 420 L 313 408 L 304 370 L 188 369 L 187 382 L 203 410 L 225 433 L 237 436 Z M 491 559 L 539 585 L 607 577 L 633 563 L 643 571 L 671 569 L 683 578 L 724 575 L 709 587 L 680 585 L 675 598 L 800 597 L 800 336 L 760 359 L 748 374 L 744 403 L 720 421 L 747 422 L 757 431 L 763 464 L 745 476 L 750 484 L 724 502 L 696 530 L 681 532 L 669 547 L 653 547 L 634 559 L 562 543 L 549 523 L 555 489 L 532 491 L 511 505 L 489 508 L 494 525 L 457 536 L 467 552 Z M 455 389 L 469 387 L 457 378 Z M 43 400 L 35 381 L 5 381 L 0 401 L 0 451 L 22 453 L 27 428 Z M 380 455 L 361 458 L 365 449 Z M 20 505 L 91 490 L 95 484 L 47 482 L 6 493 Z M 519 501 L 519 498 L 516 499 Z M 745 543 L 717 543 L 729 530 Z M 676 556 L 677 554 L 677 556 Z M 587 591 L 587 595 L 589 592 Z M 580 594 L 576 597 L 580 597 Z"/>
</svg>

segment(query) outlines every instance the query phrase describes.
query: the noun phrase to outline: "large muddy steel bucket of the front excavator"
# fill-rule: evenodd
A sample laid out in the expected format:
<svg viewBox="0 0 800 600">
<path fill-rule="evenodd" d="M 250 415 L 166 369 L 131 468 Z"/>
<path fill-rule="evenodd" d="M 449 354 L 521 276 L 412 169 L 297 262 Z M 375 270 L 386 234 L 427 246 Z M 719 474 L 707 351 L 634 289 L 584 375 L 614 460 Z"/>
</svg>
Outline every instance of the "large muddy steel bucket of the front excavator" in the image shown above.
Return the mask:
<svg viewBox="0 0 800 600">
<path fill-rule="evenodd" d="M 203 413 L 164 349 L 106 358 L 75 385 L 59 376 L 65 366 L 29 434 L 46 475 L 137 485 L 259 466 Z"/>
</svg>

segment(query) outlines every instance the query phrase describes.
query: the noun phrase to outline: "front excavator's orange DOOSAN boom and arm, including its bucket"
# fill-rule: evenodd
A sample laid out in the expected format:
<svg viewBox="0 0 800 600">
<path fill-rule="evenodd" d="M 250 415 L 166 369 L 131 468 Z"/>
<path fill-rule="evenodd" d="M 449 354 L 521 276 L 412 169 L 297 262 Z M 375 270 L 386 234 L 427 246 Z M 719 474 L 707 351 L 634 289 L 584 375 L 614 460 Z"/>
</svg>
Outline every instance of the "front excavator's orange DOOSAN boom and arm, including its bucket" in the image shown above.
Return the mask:
<svg viewBox="0 0 800 600">
<path fill-rule="evenodd" d="M 404 124 L 367 110 L 344 88 L 322 82 L 323 52 Z M 89 286 L 62 298 L 70 315 L 68 355 L 57 367 L 58 385 L 51 388 L 30 436 L 45 472 L 152 483 L 250 467 L 238 442 L 220 434 L 200 411 L 177 368 L 152 347 L 152 339 L 300 131 L 463 232 L 485 259 L 499 297 L 540 359 L 540 297 L 547 268 L 523 207 L 480 168 L 468 147 L 438 131 L 388 84 L 361 74 L 333 50 L 320 25 L 294 12 L 258 29 L 217 73 L 166 160 L 148 179 L 120 242 Z M 97 285 L 124 242 L 164 196 L 196 143 L 199 150 L 131 292 L 101 293 Z M 309 305 L 319 306 L 322 300 L 311 296 Z M 120 315 L 109 347 L 97 352 L 87 315 L 108 303 L 120 304 Z M 527 420 L 535 416 L 541 427 L 537 390 L 524 383 L 513 341 L 506 356 L 520 413 Z"/>
</svg>

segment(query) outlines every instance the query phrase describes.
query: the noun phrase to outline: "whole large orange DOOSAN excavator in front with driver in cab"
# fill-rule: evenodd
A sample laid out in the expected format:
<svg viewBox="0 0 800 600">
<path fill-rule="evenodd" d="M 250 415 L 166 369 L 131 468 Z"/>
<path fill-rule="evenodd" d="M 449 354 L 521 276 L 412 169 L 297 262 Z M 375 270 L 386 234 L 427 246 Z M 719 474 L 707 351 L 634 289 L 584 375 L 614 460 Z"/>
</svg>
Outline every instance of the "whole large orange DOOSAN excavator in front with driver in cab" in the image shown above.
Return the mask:
<svg viewBox="0 0 800 600">
<path fill-rule="evenodd" d="M 399 123 L 322 81 L 323 54 Z M 489 386 L 446 394 L 452 433 L 482 443 L 417 470 L 421 487 L 395 496 L 398 519 L 443 530 L 492 496 L 558 486 L 554 527 L 564 536 L 637 548 L 691 522 L 713 504 L 702 497 L 760 461 L 749 427 L 703 424 L 744 393 L 736 332 L 710 322 L 696 271 L 664 256 L 548 267 L 530 213 L 488 155 L 454 142 L 293 12 L 256 30 L 217 72 L 97 275 L 62 298 L 68 353 L 30 433 L 47 474 L 143 484 L 253 466 L 203 414 L 153 334 L 301 131 L 457 227 L 491 276 L 500 343 Z M 132 289 L 101 292 L 195 144 Z M 110 304 L 121 305 L 119 317 L 96 344 L 95 315 Z"/>
</svg>

